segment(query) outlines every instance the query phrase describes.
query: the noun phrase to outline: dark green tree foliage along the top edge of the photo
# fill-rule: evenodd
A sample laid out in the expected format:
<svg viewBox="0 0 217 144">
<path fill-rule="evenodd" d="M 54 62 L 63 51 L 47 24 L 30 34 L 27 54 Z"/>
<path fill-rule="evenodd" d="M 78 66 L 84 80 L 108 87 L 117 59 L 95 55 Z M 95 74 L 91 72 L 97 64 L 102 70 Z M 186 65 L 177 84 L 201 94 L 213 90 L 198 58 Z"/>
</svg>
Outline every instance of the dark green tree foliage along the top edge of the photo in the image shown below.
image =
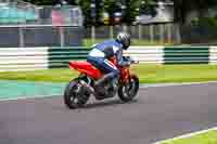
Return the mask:
<svg viewBox="0 0 217 144">
<path fill-rule="evenodd" d="M 24 0 L 38 5 L 55 5 L 63 0 Z M 91 0 L 65 0 L 68 4 L 78 4 L 82 9 L 86 23 L 92 23 L 91 17 Z M 168 0 L 162 0 L 168 1 Z M 183 24 L 187 15 L 196 11 L 201 17 L 206 13 L 209 6 L 217 5 L 217 0 L 170 0 L 174 2 L 174 15 L 175 21 Z M 95 0 L 95 22 L 100 22 L 103 12 L 114 16 L 116 11 L 122 11 L 123 22 L 131 24 L 136 16 L 139 14 L 139 10 L 146 6 L 154 6 L 158 0 Z M 125 8 L 122 8 L 122 5 Z"/>
</svg>

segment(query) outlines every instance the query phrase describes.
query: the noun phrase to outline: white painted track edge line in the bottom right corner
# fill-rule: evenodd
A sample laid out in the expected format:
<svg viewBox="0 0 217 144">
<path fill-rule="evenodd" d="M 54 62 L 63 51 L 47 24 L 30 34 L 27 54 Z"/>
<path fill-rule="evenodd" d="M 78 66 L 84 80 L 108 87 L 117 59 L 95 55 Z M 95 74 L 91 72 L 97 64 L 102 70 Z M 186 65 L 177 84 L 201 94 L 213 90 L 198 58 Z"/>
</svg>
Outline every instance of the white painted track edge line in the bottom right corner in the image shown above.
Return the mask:
<svg viewBox="0 0 217 144">
<path fill-rule="evenodd" d="M 206 133 L 208 131 L 214 131 L 214 130 L 217 131 L 217 127 L 210 128 L 210 129 L 207 129 L 207 130 L 202 130 L 202 131 L 196 131 L 196 132 L 183 134 L 183 135 L 180 135 L 180 136 L 177 136 L 177 138 L 174 138 L 174 139 L 158 141 L 158 142 L 155 142 L 153 144 L 162 144 L 162 143 L 165 143 L 165 142 L 170 142 L 170 141 L 175 141 L 175 140 L 179 140 L 179 139 L 188 139 L 188 138 L 195 136 L 195 135 L 199 135 L 199 134 L 203 134 L 203 133 Z"/>
</svg>

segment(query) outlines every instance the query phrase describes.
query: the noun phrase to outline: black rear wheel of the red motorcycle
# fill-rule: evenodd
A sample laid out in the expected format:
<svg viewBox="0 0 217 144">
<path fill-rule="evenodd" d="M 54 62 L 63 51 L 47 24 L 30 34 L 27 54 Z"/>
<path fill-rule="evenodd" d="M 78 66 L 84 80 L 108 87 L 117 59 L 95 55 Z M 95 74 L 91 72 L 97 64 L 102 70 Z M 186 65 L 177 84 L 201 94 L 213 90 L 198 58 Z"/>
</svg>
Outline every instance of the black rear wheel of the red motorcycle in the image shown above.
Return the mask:
<svg viewBox="0 0 217 144">
<path fill-rule="evenodd" d="M 82 107 L 89 100 L 89 93 L 82 91 L 82 86 L 79 83 L 79 79 L 72 80 L 64 91 L 64 103 L 71 108 Z"/>
</svg>

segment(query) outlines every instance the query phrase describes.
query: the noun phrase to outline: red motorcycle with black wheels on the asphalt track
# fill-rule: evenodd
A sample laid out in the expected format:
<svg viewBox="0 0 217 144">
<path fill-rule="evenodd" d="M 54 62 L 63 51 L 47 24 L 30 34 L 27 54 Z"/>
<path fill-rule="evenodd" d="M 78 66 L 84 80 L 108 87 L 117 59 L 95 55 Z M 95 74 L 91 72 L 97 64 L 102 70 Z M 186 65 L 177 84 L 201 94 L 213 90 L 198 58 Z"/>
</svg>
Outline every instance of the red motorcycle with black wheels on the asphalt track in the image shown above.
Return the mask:
<svg viewBox="0 0 217 144">
<path fill-rule="evenodd" d="M 67 84 L 64 92 L 65 105 L 68 108 L 82 107 L 91 95 L 95 100 L 105 100 L 118 94 L 123 102 L 131 101 L 138 93 L 139 78 L 137 75 L 131 74 L 130 65 L 139 62 L 132 61 L 129 56 L 124 56 L 124 61 L 128 61 L 129 65 L 117 66 L 120 69 L 120 77 L 115 86 L 112 81 L 104 83 L 104 91 L 106 91 L 104 95 L 94 89 L 95 81 L 104 74 L 86 61 L 71 61 L 69 68 L 79 71 L 80 75 Z M 111 62 L 117 65 L 115 58 L 111 60 Z"/>
</svg>

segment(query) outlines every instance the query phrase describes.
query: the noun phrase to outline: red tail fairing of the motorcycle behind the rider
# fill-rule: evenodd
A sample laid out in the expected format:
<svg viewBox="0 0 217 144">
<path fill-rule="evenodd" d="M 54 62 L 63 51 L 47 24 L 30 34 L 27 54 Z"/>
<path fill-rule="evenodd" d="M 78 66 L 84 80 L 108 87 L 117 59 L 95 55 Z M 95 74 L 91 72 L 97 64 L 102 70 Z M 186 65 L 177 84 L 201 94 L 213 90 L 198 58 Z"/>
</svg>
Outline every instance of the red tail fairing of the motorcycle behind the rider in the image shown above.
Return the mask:
<svg viewBox="0 0 217 144">
<path fill-rule="evenodd" d="M 71 61 L 69 67 L 74 68 L 93 79 L 99 79 L 102 77 L 101 71 L 86 61 Z"/>
</svg>

